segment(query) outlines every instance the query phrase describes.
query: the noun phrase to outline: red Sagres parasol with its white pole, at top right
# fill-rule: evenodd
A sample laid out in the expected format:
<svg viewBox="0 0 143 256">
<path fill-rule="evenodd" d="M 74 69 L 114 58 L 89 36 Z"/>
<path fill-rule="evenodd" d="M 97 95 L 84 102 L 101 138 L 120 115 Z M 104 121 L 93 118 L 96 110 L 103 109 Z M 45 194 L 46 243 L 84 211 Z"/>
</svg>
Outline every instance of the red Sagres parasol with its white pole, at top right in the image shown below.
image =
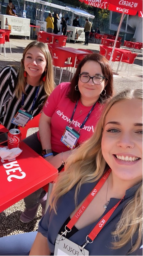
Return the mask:
<svg viewBox="0 0 143 256">
<path fill-rule="evenodd" d="M 117 29 L 117 34 L 113 46 L 113 50 L 110 57 L 112 60 L 113 52 L 116 46 L 116 41 L 120 28 L 124 19 L 124 13 L 129 15 L 136 15 L 138 12 L 139 17 L 143 17 L 143 0 L 79 0 L 82 3 L 86 3 L 96 8 L 108 9 L 114 12 L 122 13 L 120 24 Z"/>
</svg>

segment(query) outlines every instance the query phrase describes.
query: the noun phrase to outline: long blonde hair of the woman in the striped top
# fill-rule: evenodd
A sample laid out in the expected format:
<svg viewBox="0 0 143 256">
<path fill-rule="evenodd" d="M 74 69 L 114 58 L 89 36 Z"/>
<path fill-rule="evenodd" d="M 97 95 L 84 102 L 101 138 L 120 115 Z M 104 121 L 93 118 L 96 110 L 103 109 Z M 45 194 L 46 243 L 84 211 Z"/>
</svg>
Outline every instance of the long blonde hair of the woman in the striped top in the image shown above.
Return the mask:
<svg viewBox="0 0 143 256">
<path fill-rule="evenodd" d="M 47 95 L 46 99 L 48 96 L 51 94 L 51 92 L 54 89 L 54 78 L 53 78 L 53 66 L 52 66 L 52 59 L 51 59 L 51 54 L 48 50 L 48 47 L 43 43 L 43 42 L 37 42 L 33 41 L 28 44 L 28 46 L 25 48 L 23 52 L 23 56 L 21 59 L 21 66 L 19 70 L 19 76 L 18 76 L 18 83 L 16 86 L 16 97 L 21 98 L 22 92 L 25 93 L 25 86 L 26 86 L 26 78 L 24 77 L 24 59 L 26 52 L 31 48 L 31 47 L 37 47 L 41 52 L 45 55 L 46 61 L 47 61 L 47 72 L 45 74 L 42 74 L 41 79 L 40 79 L 40 84 L 44 83 L 44 90 Z M 43 77 L 46 75 L 46 80 L 43 82 Z"/>
</svg>

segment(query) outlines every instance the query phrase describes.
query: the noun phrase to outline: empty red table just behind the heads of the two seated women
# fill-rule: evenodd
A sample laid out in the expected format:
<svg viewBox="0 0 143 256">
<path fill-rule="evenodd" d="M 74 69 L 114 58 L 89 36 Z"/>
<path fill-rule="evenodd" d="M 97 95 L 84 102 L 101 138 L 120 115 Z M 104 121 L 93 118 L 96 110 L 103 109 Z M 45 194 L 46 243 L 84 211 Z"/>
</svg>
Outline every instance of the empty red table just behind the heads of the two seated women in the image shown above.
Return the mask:
<svg viewBox="0 0 143 256">
<path fill-rule="evenodd" d="M 75 55 L 75 63 L 74 63 L 73 75 L 74 75 L 74 72 L 75 72 L 75 66 L 76 66 L 77 57 L 78 56 L 84 56 L 85 57 L 86 55 L 89 54 L 89 52 L 80 51 L 80 50 L 77 50 L 77 49 L 72 48 L 72 47 L 55 47 L 55 49 L 61 50 L 61 51 L 66 51 L 66 52 L 70 52 L 70 53 L 73 53 Z"/>
</svg>

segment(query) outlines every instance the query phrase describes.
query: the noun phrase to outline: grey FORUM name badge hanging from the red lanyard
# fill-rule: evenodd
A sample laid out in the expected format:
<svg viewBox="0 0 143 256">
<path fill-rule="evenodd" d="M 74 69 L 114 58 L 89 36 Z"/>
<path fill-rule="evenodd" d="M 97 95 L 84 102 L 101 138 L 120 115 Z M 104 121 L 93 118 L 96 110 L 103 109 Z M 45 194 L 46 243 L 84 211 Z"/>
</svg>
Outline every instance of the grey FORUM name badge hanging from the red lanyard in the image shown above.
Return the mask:
<svg viewBox="0 0 143 256">
<path fill-rule="evenodd" d="M 82 249 L 81 246 L 78 244 L 68 240 L 64 236 L 57 235 L 55 240 L 55 248 L 54 248 L 54 255 L 89 255 L 89 251 L 86 249 Z"/>
</svg>

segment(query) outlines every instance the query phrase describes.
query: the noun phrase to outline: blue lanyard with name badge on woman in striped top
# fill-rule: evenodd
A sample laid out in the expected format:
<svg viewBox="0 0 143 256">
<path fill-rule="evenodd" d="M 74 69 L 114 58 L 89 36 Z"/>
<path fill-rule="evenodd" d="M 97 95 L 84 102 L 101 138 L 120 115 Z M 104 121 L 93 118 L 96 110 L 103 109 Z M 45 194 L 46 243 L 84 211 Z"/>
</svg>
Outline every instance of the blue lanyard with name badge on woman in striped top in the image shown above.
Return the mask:
<svg viewBox="0 0 143 256">
<path fill-rule="evenodd" d="M 28 111 L 23 109 L 23 106 L 24 106 L 24 93 L 22 92 L 21 108 L 18 110 L 18 112 L 16 113 L 16 115 L 12 119 L 12 121 L 11 121 L 12 124 L 17 125 L 19 127 L 24 127 L 24 126 L 26 126 L 28 121 L 30 119 L 32 119 L 32 114 L 33 114 L 34 106 L 35 106 L 36 99 L 37 99 L 37 96 L 38 96 L 39 88 L 40 88 L 40 86 L 37 87 L 37 90 L 36 90 L 36 93 L 35 93 L 35 97 L 34 97 L 33 104 L 32 104 L 30 112 L 28 112 Z"/>
</svg>

